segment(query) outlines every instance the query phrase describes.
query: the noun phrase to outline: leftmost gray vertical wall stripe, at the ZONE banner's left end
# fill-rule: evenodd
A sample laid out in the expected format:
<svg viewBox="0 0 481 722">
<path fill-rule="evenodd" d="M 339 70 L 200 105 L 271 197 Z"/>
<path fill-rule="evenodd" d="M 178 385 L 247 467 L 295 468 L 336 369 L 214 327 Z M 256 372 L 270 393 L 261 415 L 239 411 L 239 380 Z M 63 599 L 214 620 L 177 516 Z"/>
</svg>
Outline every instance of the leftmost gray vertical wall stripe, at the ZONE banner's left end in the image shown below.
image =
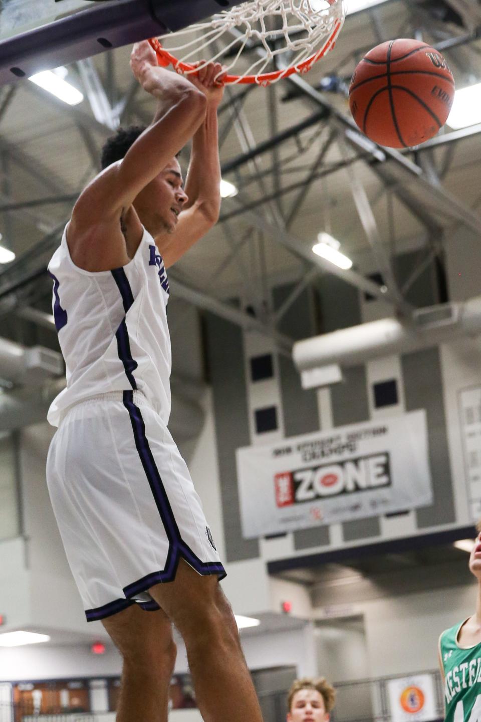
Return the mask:
<svg viewBox="0 0 481 722">
<path fill-rule="evenodd" d="M 213 390 L 219 477 L 228 562 L 259 557 L 257 539 L 243 539 L 236 449 L 250 445 L 242 329 L 206 314 L 206 350 Z"/>
</svg>

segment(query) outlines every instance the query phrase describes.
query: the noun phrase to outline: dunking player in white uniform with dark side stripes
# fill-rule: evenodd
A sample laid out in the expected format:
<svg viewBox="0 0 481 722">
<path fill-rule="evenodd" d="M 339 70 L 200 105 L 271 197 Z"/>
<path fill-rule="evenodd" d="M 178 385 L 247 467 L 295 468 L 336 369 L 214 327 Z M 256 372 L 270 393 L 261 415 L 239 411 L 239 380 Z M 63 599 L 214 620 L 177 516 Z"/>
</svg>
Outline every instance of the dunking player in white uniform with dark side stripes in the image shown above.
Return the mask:
<svg viewBox="0 0 481 722">
<path fill-rule="evenodd" d="M 167 721 L 172 623 L 203 719 L 262 722 L 224 567 L 167 430 L 166 269 L 219 215 L 222 68 L 186 79 L 147 42 L 131 67 L 159 101 L 156 118 L 107 143 L 48 267 L 67 367 L 48 413 L 48 487 L 87 619 L 102 620 L 123 656 L 118 722 Z M 184 190 L 176 154 L 190 139 Z"/>
</svg>

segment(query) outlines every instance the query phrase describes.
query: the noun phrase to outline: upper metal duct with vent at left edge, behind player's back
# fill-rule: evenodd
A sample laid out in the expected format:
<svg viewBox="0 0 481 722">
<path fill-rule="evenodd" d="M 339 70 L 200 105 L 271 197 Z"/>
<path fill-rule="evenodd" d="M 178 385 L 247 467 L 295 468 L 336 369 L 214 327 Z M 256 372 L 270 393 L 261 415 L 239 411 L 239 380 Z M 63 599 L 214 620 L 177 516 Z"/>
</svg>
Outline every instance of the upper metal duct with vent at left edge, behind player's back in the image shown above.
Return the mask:
<svg viewBox="0 0 481 722">
<path fill-rule="evenodd" d="M 62 355 L 43 346 L 26 349 L 0 339 L 0 379 L 22 386 L 37 386 L 39 381 L 63 374 Z"/>
</svg>

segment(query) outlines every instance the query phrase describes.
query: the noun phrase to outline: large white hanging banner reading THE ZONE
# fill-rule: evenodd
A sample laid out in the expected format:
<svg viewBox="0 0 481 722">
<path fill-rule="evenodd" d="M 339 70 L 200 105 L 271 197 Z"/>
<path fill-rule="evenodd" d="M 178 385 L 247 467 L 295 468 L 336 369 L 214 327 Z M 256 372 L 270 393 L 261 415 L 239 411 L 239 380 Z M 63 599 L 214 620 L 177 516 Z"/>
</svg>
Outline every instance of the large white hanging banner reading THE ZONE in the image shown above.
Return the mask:
<svg viewBox="0 0 481 722">
<path fill-rule="evenodd" d="M 424 411 L 237 450 L 245 539 L 433 503 Z"/>
</svg>

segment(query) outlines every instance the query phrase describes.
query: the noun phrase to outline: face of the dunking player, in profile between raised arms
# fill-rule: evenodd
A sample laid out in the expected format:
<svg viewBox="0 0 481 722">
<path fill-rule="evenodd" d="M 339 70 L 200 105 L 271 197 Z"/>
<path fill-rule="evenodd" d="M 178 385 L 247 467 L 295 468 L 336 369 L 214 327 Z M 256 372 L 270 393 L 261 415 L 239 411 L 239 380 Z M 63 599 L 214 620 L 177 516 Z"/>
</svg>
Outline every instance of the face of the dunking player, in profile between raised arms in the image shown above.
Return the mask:
<svg viewBox="0 0 481 722">
<path fill-rule="evenodd" d="M 177 158 L 173 158 L 140 193 L 135 206 L 147 230 L 152 235 L 162 235 L 175 231 L 187 201 L 180 165 Z"/>
</svg>

